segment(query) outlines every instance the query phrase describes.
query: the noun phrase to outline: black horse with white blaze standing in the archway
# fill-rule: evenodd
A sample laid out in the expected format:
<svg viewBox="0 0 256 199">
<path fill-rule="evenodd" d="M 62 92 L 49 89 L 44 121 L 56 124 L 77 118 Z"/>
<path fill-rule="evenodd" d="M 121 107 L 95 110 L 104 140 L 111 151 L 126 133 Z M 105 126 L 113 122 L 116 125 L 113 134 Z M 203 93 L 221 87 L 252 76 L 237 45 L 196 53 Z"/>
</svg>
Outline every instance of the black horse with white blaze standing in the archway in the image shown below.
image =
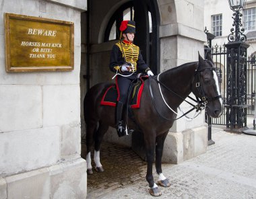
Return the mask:
<svg viewBox="0 0 256 199">
<path fill-rule="evenodd" d="M 88 174 L 92 174 L 90 151 L 93 145 L 95 169 L 104 171 L 100 163 L 100 143 L 108 126 L 115 127 L 115 107 L 100 105 L 104 91 L 110 85 L 110 83 L 94 85 L 84 99 Z M 135 122 L 129 120 L 129 127 L 143 133 L 148 162 L 146 180 L 152 196 L 161 195 L 152 175 L 154 153 L 156 153 L 156 172 L 159 175 L 158 184 L 170 186 L 170 182 L 162 173 L 164 140 L 177 118 L 174 111 L 177 112 L 177 108 L 191 92 L 197 97 L 198 103 L 195 108 L 200 109 L 204 106 L 210 116 L 214 118 L 220 116 L 222 99 L 216 68 L 210 54 L 207 54 L 206 60 L 199 55 L 199 62 L 186 63 L 160 73 L 158 77 L 146 79 L 141 106 L 132 110 Z"/>
</svg>

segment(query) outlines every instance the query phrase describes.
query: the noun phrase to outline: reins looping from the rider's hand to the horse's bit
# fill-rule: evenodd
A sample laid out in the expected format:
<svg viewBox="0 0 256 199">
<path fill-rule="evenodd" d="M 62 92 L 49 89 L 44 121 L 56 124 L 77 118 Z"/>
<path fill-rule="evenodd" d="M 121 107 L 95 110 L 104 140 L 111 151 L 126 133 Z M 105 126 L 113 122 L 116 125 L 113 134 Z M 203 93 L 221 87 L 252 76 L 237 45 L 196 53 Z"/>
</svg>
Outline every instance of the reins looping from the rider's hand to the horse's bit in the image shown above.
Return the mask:
<svg viewBox="0 0 256 199">
<path fill-rule="evenodd" d="M 155 99 L 154 99 L 154 94 L 153 94 L 153 91 L 152 91 L 152 86 L 151 86 L 151 79 L 154 79 L 154 77 L 149 77 L 149 80 L 148 80 L 148 83 L 149 83 L 149 87 L 150 87 L 150 95 L 151 95 L 151 98 L 152 98 L 152 102 L 154 104 L 154 108 L 156 109 L 156 112 L 158 113 L 158 115 L 161 116 L 161 118 L 164 118 L 165 120 L 168 120 L 168 121 L 174 121 L 174 120 L 179 120 L 179 118 L 182 118 L 183 116 L 189 114 L 189 112 L 193 111 L 193 110 L 201 110 L 201 107 L 203 107 L 203 104 L 202 102 L 198 102 L 197 100 L 193 99 L 192 97 L 188 96 L 190 99 L 192 99 L 194 102 L 197 102 L 197 106 L 191 104 L 190 102 L 188 102 L 186 99 L 184 99 L 183 97 L 181 97 L 180 95 L 178 95 L 177 93 L 175 93 L 174 91 L 172 91 L 171 89 L 169 89 L 168 87 L 166 87 L 166 85 L 164 85 L 163 83 L 161 83 L 160 81 L 158 81 L 157 79 L 154 79 L 157 83 L 160 83 L 160 85 L 162 85 L 164 88 L 166 88 L 168 91 L 174 93 L 174 95 L 177 95 L 178 97 L 180 97 L 181 99 L 183 99 L 183 101 L 187 102 L 188 104 L 190 104 L 191 106 L 193 106 L 193 108 L 191 108 L 191 110 L 185 112 L 185 114 L 183 114 L 182 116 L 180 116 L 179 118 L 175 118 L 175 119 L 168 119 L 164 116 L 162 116 L 162 114 L 160 114 L 160 112 L 158 112 L 158 109 L 156 108 L 156 102 L 155 102 Z"/>
</svg>

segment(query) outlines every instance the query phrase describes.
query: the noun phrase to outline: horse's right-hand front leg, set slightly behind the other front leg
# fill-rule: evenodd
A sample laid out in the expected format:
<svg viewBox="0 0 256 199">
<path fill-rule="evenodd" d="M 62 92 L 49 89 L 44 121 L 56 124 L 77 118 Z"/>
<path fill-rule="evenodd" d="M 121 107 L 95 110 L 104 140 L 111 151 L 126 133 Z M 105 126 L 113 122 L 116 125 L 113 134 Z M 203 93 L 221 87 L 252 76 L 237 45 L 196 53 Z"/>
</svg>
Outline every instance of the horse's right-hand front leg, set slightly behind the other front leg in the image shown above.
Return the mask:
<svg viewBox="0 0 256 199">
<path fill-rule="evenodd" d="M 158 185 L 169 187 L 170 182 L 162 173 L 162 152 L 164 149 L 164 141 L 168 134 L 168 131 L 164 132 L 164 134 L 160 134 L 156 137 L 156 173 L 158 173 Z"/>
</svg>

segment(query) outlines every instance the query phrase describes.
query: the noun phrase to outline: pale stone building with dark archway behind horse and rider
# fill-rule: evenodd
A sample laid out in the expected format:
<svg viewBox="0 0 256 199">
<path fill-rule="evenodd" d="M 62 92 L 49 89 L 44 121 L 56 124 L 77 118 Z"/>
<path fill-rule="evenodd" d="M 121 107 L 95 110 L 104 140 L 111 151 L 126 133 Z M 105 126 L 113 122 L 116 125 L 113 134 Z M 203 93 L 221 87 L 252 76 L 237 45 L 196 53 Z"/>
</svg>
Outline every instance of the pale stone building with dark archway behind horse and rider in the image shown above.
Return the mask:
<svg viewBox="0 0 256 199">
<path fill-rule="evenodd" d="M 135 43 L 154 73 L 161 73 L 203 54 L 203 0 L 1 0 L 0 5 L 0 198 L 86 198 L 82 102 L 89 87 L 113 77 L 108 63 L 117 42 L 115 23 L 134 15 Z M 5 13 L 73 23 L 73 70 L 7 72 Z M 105 140 L 133 146 L 132 136 L 118 138 L 112 128 Z M 180 119 L 168 133 L 163 161 L 181 163 L 206 147 L 204 114 L 193 122 Z"/>
</svg>

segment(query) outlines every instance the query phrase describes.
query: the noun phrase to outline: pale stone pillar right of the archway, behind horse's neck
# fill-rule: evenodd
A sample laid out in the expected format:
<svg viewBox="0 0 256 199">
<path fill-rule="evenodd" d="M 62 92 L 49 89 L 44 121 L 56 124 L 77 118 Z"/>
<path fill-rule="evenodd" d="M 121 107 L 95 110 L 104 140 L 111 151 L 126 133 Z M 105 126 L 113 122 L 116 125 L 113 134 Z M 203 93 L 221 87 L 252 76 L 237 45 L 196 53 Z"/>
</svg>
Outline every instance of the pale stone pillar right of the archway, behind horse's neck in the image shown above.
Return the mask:
<svg viewBox="0 0 256 199">
<path fill-rule="evenodd" d="M 161 69 L 166 71 L 184 63 L 198 61 L 198 52 L 203 56 L 203 0 L 164 1 L 158 0 L 160 7 Z M 193 97 L 193 94 L 191 94 Z M 191 106 L 181 104 L 181 110 L 187 112 Z M 183 112 L 178 110 L 178 114 Z M 194 117 L 194 112 L 189 118 Z M 164 144 L 163 161 L 181 163 L 206 151 L 207 128 L 204 112 L 193 120 L 181 118 L 174 122 Z"/>
</svg>

